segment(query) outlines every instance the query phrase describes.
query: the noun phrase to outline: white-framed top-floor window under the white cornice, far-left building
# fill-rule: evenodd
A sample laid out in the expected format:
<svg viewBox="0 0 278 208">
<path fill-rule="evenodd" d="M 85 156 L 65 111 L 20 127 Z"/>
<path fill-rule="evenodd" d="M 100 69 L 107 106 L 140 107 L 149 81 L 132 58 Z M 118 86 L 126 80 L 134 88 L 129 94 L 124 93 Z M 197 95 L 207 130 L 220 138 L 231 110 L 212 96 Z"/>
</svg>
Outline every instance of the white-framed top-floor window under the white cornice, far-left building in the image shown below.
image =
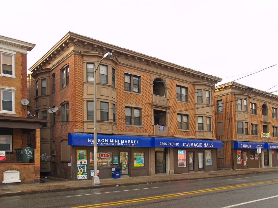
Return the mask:
<svg viewBox="0 0 278 208">
<path fill-rule="evenodd" d="M 1 74 L 14 76 L 14 55 L 1 53 Z"/>
</svg>

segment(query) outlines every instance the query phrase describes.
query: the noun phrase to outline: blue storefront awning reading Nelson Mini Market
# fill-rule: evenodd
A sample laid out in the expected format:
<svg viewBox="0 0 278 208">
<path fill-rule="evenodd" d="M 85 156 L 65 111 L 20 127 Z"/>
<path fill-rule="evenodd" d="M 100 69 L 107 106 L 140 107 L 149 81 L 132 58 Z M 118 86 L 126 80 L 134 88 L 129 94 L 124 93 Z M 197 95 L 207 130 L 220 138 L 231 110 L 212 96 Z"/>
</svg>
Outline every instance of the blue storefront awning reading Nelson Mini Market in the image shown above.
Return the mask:
<svg viewBox="0 0 278 208">
<path fill-rule="evenodd" d="M 94 134 L 68 133 L 69 145 L 94 145 Z M 98 134 L 98 146 L 133 146 L 153 147 L 153 139 L 150 137 L 122 136 L 113 134 Z"/>
</svg>

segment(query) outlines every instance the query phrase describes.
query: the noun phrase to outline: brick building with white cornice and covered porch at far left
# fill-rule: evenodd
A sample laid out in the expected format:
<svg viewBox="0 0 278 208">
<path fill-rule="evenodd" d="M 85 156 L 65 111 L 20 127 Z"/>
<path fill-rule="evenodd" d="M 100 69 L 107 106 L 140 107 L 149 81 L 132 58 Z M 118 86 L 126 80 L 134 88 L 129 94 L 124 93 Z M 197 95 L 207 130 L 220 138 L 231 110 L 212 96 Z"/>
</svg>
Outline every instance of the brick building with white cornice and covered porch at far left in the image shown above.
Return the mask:
<svg viewBox="0 0 278 208">
<path fill-rule="evenodd" d="M 0 36 L 0 181 L 40 182 L 40 124 L 30 118 L 26 55 L 35 45 Z"/>
</svg>

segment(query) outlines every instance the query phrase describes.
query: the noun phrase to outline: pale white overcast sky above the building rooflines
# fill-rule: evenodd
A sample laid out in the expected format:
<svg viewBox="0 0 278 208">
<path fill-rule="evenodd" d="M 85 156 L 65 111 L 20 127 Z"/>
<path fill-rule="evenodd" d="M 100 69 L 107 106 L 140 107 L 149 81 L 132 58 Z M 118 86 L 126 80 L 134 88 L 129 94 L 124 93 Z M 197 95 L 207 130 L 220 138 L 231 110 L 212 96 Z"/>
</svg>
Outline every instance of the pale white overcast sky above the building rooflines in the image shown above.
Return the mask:
<svg viewBox="0 0 278 208">
<path fill-rule="evenodd" d="M 278 94 L 277 11 L 277 0 L 2 1 L 0 35 L 36 44 L 27 68 L 72 31 L 222 78 L 217 85 Z"/>
</svg>

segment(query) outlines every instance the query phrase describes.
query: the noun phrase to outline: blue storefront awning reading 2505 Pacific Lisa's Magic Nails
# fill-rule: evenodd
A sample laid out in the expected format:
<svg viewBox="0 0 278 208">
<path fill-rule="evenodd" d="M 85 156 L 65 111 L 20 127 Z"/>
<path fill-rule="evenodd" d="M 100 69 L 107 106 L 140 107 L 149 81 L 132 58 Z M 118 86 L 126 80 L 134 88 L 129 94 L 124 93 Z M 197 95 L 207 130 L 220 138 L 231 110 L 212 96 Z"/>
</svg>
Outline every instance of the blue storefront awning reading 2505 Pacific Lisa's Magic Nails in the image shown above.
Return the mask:
<svg viewBox="0 0 278 208">
<path fill-rule="evenodd" d="M 179 147 L 179 148 L 222 148 L 219 140 L 198 140 L 153 137 L 156 147 Z"/>
</svg>

